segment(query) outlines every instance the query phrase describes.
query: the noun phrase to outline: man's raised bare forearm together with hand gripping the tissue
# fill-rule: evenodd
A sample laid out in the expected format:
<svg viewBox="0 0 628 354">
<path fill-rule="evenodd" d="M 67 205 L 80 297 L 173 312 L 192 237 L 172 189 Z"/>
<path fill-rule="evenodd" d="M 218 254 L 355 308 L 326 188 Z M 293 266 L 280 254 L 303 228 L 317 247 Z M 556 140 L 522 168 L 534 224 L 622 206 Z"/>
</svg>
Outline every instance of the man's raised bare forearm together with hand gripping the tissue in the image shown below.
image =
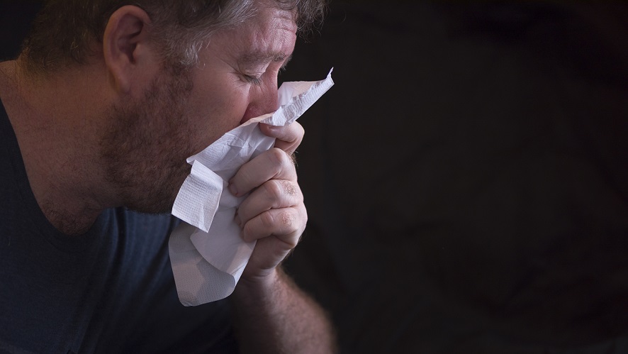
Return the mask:
<svg viewBox="0 0 628 354">
<path fill-rule="evenodd" d="M 296 247 L 307 211 L 289 154 L 301 143 L 298 123 L 269 129 L 275 148 L 243 165 L 230 181 L 236 195 L 250 193 L 236 219 L 242 237 L 257 240 L 232 306 L 242 353 L 334 353 L 332 326 L 323 309 L 281 270 Z"/>
</svg>

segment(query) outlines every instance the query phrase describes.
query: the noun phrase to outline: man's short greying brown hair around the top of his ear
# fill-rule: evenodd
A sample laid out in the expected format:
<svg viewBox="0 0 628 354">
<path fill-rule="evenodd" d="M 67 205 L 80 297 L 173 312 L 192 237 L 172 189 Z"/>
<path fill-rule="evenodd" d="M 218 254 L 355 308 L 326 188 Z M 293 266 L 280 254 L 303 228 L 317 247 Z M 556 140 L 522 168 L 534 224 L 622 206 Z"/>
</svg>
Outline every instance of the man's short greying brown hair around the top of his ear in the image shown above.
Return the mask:
<svg viewBox="0 0 628 354">
<path fill-rule="evenodd" d="M 45 73 L 83 64 L 101 41 L 111 14 L 122 6 L 144 9 L 152 21 L 162 56 L 175 65 L 198 62 L 198 51 L 212 33 L 254 16 L 259 0 L 47 0 L 23 43 L 30 72 Z M 294 10 L 300 35 L 323 20 L 325 0 L 271 0 Z"/>
</svg>

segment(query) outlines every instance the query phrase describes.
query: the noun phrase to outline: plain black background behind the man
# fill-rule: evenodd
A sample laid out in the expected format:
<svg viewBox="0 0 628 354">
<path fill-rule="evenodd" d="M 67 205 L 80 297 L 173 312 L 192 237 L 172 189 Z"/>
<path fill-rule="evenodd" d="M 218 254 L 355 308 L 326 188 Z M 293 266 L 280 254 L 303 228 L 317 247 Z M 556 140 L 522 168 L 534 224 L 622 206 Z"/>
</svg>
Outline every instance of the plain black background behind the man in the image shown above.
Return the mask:
<svg viewBox="0 0 628 354">
<path fill-rule="evenodd" d="M 625 3 L 333 1 L 281 79 L 331 67 L 286 268 L 342 353 L 628 353 Z"/>
</svg>

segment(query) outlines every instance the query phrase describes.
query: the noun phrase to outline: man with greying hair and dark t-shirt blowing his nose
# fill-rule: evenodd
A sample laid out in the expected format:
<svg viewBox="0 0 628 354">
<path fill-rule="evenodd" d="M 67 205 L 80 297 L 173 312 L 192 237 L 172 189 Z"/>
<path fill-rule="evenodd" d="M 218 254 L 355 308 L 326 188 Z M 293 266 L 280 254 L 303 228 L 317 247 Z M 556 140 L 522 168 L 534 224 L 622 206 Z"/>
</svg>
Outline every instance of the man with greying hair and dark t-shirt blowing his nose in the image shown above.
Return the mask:
<svg viewBox="0 0 628 354">
<path fill-rule="evenodd" d="M 133 5 L 130 5 L 130 4 Z M 186 157 L 276 109 L 322 1 L 47 1 L 0 63 L 0 351 L 329 353 L 330 323 L 281 272 L 307 220 L 276 147 L 230 180 L 257 246 L 230 299 L 179 304 L 167 213 Z M 138 213 L 150 213 L 140 214 Z M 231 309 L 231 311 L 229 311 Z M 229 319 L 233 319 L 233 328 Z"/>
</svg>

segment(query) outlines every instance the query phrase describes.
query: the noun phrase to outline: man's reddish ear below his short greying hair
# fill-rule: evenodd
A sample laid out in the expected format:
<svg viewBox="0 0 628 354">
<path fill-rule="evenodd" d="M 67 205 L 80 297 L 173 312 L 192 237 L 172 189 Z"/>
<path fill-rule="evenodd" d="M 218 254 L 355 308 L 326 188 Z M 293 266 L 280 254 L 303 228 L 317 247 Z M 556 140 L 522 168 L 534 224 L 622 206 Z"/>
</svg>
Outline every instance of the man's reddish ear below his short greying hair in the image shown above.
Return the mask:
<svg viewBox="0 0 628 354">
<path fill-rule="evenodd" d="M 111 84 L 119 93 L 142 84 L 154 65 L 149 25 L 150 17 L 138 6 L 122 6 L 109 18 L 103 33 L 103 57 Z"/>
</svg>

